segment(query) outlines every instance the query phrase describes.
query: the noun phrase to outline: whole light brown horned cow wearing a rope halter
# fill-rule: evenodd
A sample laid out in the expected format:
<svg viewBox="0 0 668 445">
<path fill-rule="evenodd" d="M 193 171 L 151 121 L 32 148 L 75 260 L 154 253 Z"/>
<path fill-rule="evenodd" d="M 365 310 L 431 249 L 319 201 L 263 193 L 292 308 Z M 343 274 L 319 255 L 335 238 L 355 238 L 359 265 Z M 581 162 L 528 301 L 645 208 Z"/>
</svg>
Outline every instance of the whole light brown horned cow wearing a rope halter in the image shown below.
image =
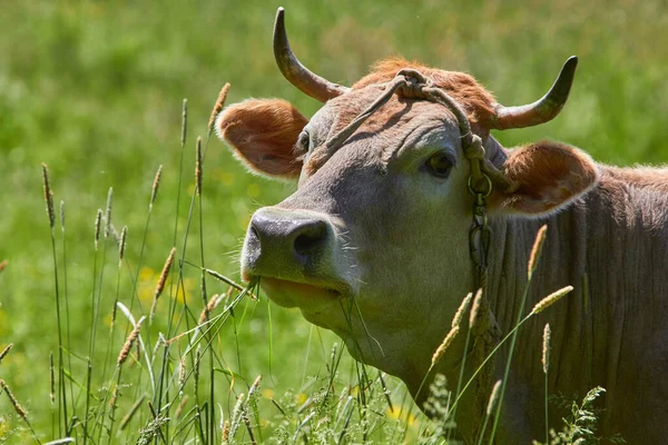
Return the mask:
<svg viewBox="0 0 668 445">
<path fill-rule="evenodd" d="M 297 307 L 338 335 L 357 360 L 401 378 L 423 406 L 421 388 L 435 373 L 451 386 L 458 382 L 464 336 L 433 369 L 431 362 L 463 296 L 481 279 L 490 325 L 482 342 L 493 345 L 515 325 L 531 246 L 547 224 L 527 307 L 567 285 L 573 290 L 519 330 L 495 443 L 544 434 L 548 322 L 549 394 L 581 397 L 600 385 L 607 389 L 601 436 L 665 443 L 668 170 L 597 164 L 549 140 L 507 149 L 490 132 L 554 118 L 577 59 L 543 98 L 505 107 L 470 75 L 400 58 L 377 62 L 350 88 L 330 82 L 292 52 L 282 9 L 274 52 L 283 75 L 324 105 L 307 119 L 285 100 L 250 99 L 216 119 L 218 136 L 249 170 L 297 182 L 287 199 L 253 215 L 243 278 L 259 278 L 272 300 Z M 484 246 L 480 234 L 471 236 L 472 220 L 482 219 L 479 228 L 491 234 Z M 487 258 L 475 267 L 472 251 L 480 256 L 481 247 Z M 480 384 L 484 390 L 460 404 L 464 442 L 475 441 L 491 383 L 503 377 L 508 358 L 501 348 Z M 562 414 L 551 409 L 550 426 Z"/>
</svg>

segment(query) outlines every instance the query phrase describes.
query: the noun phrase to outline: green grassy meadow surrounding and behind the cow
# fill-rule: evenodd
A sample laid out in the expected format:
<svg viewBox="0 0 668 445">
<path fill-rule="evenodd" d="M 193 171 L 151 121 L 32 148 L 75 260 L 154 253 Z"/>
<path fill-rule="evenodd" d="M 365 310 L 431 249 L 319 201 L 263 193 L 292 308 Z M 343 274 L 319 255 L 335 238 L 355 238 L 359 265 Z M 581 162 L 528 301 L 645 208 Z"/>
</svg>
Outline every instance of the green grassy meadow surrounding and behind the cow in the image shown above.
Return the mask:
<svg viewBox="0 0 668 445">
<path fill-rule="evenodd" d="M 0 363 L 0 378 L 42 442 L 62 437 L 72 415 L 82 422 L 85 412 L 92 413 L 91 443 L 107 442 L 105 428 L 114 428 L 118 442 L 137 438 L 140 429 L 153 437 L 164 417 L 156 413 L 153 418 L 148 400 L 154 409 L 168 400 L 171 415 L 183 403 L 181 415 L 160 429 L 169 437 L 210 438 L 222 429 L 220 409 L 230 428 L 237 422 L 238 437 L 243 434 L 245 441 L 249 434 L 244 418 L 258 442 L 276 443 L 304 434 L 324 442 L 345 434 L 400 442 L 404 434 L 426 437 L 424 429 L 438 429 L 407 414 L 415 409 L 395 380 L 381 382 L 375 370 L 333 348 L 337 340 L 330 333 L 310 326 L 294 310 L 271 308 L 262 295 L 257 301 L 239 299 L 234 310 L 218 306 L 207 325 L 210 330 L 197 336 L 204 349 L 199 358 L 190 340 L 174 343 L 180 352 L 159 343 L 158 333 L 169 339 L 194 329 L 205 297 L 227 294 L 228 286 L 213 277 L 204 281 L 206 293 L 202 290 L 202 267 L 238 280 L 239 240 L 253 209 L 281 200 L 294 188 L 247 175 L 216 140 L 207 146 L 206 122 L 218 89 L 232 83 L 228 102 L 278 96 L 306 116 L 317 109 L 275 68 L 271 32 L 278 4 L 238 4 L 207 1 L 165 8 L 137 2 L 120 8 L 35 1 L 0 14 L 0 261 L 8 260 L 0 271 L 0 350 L 14 345 Z M 284 6 L 302 60 L 348 85 L 374 60 L 401 53 L 469 71 L 512 105 L 542 93 L 561 62 L 577 53 L 581 62 L 563 115 L 539 128 L 498 134 L 502 144 L 548 137 L 607 162 L 668 159 L 668 129 L 656 118 L 668 111 L 668 48 L 658 44 L 668 37 L 668 23 L 660 1 L 511 1 L 501 8 L 482 1 L 443 6 L 346 0 Z M 185 97 L 190 123 L 181 145 Z M 193 199 L 197 135 L 207 148 L 203 194 Z M 49 166 L 55 192 L 53 227 L 40 198 L 40 162 Z M 148 206 L 159 166 L 159 191 Z M 114 228 L 120 234 L 128 227 L 120 267 L 112 233 L 102 234 L 95 247 L 96 214 L 101 208 L 105 219 L 109 187 Z M 67 212 L 62 226 L 61 201 Z M 148 313 L 171 247 L 177 247 L 179 267 L 171 270 L 154 324 L 146 320 L 141 328 L 146 347 L 131 353 L 121 372 L 111 362 L 134 324 L 116 312 L 115 303 L 126 305 L 136 319 Z M 235 290 L 230 298 L 238 295 Z M 91 314 L 97 316 L 91 319 Z M 60 322 L 57 315 L 62 315 Z M 59 337 L 63 347 L 58 347 Z M 181 358 L 188 377 L 179 398 Z M 161 390 L 153 389 L 151 373 Z M 243 398 L 235 416 L 238 395 L 248 394 L 257 375 L 263 376 L 261 389 Z M 360 390 L 366 378 L 374 384 Z M 114 390 L 116 403 L 109 406 Z M 147 402 L 135 406 L 143 398 Z M 12 413 L 9 399 L 0 396 L 0 437 L 9 443 L 32 437 Z M 330 421 L 318 425 L 322 413 L 330 413 Z M 96 421 L 101 418 L 105 427 Z M 73 429 L 80 438 L 81 429 Z"/>
</svg>

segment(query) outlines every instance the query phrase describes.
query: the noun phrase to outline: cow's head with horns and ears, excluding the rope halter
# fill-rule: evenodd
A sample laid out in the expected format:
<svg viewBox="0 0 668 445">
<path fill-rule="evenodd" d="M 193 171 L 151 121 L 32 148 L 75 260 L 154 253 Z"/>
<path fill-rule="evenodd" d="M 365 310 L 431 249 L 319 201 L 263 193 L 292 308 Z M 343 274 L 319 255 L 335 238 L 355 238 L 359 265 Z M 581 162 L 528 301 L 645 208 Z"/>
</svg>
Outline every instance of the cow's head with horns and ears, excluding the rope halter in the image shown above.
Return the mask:
<svg viewBox="0 0 668 445">
<path fill-rule="evenodd" d="M 284 100 L 254 99 L 217 118 L 218 135 L 250 170 L 298 181 L 294 195 L 253 216 L 242 275 L 261 277 L 274 301 L 298 307 L 340 335 L 357 359 L 400 376 L 414 392 L 474 283 L 471 166 L 461 122 L 443 105 L 394 95 L 343 144 L 327 142 L 410 67 L 459 103 L 487 161 L 513 185 L 494 188 L 490 212 L 556 211 L 593 185 L 589 157 L 553 142 L 507 151 L 489 131 L 553 118 L 574 60 L 543 99 L 505 108 L 469 75 L 400 59 L 380 62 L 350 89 L 331 83 L 296 60 L 282 10 L 275 53 L 288 80 L 325 103 L 306 119 Z"/>
</svg>

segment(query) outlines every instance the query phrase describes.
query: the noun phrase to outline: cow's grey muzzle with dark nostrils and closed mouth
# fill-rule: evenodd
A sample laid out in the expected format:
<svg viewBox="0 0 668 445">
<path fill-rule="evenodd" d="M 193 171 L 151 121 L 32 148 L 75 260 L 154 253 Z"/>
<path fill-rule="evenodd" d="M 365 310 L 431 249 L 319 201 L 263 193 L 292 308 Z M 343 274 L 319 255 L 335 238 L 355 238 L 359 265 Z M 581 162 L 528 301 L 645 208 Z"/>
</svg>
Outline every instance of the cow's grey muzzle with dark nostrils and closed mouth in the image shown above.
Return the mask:
<svg viewBox="0 0 668 445">
<path fill-rule="evenodd" d="M 297 300 L 310 296 L 350 294 L 350 280 L 342 273 L 346 263 L 327 215 L 265 207 L 250 220 L 242 253 L 242 276 L 245 280 L 259 277 L 277 303 L 299 306 Z M 296 297 L 281 301 L 285 298 L 278 294 Z"/>
</svg>

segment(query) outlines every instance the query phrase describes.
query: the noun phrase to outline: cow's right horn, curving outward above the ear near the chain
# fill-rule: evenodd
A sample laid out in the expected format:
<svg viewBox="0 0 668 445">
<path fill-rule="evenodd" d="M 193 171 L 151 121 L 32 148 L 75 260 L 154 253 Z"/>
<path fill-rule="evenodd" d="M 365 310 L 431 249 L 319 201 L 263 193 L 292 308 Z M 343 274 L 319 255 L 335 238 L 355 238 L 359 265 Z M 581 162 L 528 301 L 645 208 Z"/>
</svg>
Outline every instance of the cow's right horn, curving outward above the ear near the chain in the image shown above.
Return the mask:
<svg viewBox="0 0 668 445">
<path fill-rule="evenodd" d="M 533 103 L 520 107 L 503 107 L 502 105 L 498 105 L 495 121 L 492 128 L 507 130 L 509 128 L 532 127 L 554 119 L 568 99 L 577 66 L 578 58 L 571 56 L 563 63 L 561 72 L 554 85 L 552 85 L 552 88 L 550 88 L 546 96 Z"/>
</svg>

